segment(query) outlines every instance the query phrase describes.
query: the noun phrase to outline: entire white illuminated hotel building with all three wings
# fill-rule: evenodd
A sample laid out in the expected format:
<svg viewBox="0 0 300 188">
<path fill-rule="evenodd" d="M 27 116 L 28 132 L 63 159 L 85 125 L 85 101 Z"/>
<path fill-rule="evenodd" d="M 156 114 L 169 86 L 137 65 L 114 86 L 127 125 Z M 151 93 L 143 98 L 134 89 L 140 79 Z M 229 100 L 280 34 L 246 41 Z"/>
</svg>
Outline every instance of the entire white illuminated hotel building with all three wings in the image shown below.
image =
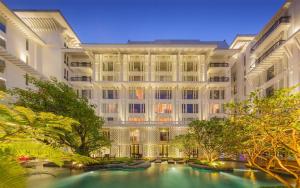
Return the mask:
<svg viewBox="0 0 300 188">
<path fill-rule="evenodd" d="M 0 87 L 56 77 L 97 106 L 116 156 L 182 156 L 169 141 L 223 104 L 300 83 L 300 2 L 287 1 L 257 35 L 225 41 L 84 44 L 57 10 L 0 3 Z"/>
</svg>

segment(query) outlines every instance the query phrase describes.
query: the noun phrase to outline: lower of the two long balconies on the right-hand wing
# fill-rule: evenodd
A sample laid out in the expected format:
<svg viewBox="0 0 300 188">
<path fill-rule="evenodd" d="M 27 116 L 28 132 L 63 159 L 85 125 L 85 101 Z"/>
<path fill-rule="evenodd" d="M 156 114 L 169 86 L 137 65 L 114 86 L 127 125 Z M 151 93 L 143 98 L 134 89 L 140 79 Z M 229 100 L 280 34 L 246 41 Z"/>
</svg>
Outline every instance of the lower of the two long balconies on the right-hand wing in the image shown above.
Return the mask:
<svg viewBox="0 0 300 188">
<path fill-rule="evenodd" d="M 252 65 L 250 65 L 250 71 L 247 76 L 267 70 L 274 62 L 284 57 L 285 52 L 282 47 L 284 43 L 285 40 L 279 40 L 265 51 Z"/>
</svg>

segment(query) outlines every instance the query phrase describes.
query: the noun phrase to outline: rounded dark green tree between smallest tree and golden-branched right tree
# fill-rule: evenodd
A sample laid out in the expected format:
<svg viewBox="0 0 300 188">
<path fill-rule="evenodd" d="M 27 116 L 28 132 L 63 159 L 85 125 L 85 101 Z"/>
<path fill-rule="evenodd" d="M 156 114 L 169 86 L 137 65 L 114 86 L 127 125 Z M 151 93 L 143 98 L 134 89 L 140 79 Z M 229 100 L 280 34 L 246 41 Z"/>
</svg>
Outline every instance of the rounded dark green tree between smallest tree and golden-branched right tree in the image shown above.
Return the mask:
<svg viewBox="0 0 300 188">
<path fill-rule="evenodd" d="M 217 160 L 221 154 L 234 151 L 235 135 L 231 135 L 231 125 L 218 119 L 196 120 L 189 124 L 200 150 L 208 162 Z"/>
</svg>

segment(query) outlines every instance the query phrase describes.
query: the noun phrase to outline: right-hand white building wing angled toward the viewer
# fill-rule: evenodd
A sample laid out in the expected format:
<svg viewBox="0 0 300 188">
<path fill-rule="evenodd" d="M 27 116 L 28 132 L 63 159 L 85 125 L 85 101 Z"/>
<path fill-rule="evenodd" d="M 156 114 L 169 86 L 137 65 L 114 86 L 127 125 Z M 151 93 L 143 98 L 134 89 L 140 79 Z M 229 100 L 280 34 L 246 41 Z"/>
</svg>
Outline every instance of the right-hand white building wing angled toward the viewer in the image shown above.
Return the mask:
<svg viewBox="0 0 300 188">
<path fill-rule="evenodd" d="M 236 38 L 236 46 L 241 37 Z M 243 88 L 237 96 L 243 98 L 254 90 L 268 96 L 274 90 L 299 84 L 300 81 L 300 2 L 286 1 L 266 26 L 242 45 L 236 67 L 245 72 Z"/>
</svg>

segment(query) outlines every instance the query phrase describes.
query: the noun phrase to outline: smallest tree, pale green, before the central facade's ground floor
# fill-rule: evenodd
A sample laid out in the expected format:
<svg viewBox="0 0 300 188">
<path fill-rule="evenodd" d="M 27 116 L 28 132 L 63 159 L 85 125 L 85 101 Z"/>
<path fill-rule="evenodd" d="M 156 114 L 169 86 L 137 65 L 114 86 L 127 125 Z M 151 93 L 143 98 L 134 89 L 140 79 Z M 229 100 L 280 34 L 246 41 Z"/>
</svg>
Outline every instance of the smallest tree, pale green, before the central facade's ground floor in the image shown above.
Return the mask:
<svg viewBox="0 0 300 188">
<path fill-rule="evenodd" d="M 171 144 L 177 149 L 183 151 L 184 155 L 188 158 L 193 154 L 193 149 L 197 148 L 196 139 L 192 134 L 178 135 L 172 141 Z"/>
</svg>

